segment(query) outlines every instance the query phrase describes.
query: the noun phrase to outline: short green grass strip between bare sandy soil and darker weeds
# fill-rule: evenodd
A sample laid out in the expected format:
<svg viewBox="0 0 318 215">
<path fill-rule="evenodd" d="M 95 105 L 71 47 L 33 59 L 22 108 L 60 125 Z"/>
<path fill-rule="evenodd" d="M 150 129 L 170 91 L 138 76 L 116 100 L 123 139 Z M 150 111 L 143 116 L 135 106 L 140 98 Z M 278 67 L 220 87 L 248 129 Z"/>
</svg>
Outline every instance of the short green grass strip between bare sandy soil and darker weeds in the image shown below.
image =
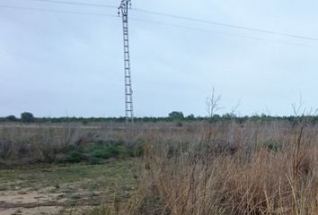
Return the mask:
<svg viewBox="0 0 318 215">
<path fill-rule="evenodd" d="M 30 188 L 40 190 L 51 187 L 52 193 L 66 191 L 73 193 L 79 189 L 99 191 L 125 186 L 129 189 L 135 185 L 134 159 L 113 160 L 102 165 L 34 165 L 22 169 L 0 170 L 1 190 Z"/>
</svg>

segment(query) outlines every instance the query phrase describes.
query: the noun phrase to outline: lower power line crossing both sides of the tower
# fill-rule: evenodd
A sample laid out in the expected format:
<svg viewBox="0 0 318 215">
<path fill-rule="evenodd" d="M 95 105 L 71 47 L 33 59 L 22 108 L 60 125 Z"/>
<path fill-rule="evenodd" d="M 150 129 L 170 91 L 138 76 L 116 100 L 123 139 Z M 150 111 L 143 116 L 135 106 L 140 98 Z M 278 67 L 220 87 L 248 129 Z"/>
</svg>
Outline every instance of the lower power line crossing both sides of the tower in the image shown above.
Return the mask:
<svg viewBox="0 0 318 215">
<path fill-rule="evenodd" d="M 39 12 L 48 12 L 48 13 L 70 13 L 70 14 L 93 15 L 93 16 L 104 16 L 104 17 L 111 17 L 111 18 L 119 18 L 117 15 L 111 15 L 111 14 L 106 14 L 106 13 L 84 13 L 84 12 L 75 12 L 75 11 L 42 9 L 42 8 L 33 8 L 33 7 L 20 7 L 20 6 L 7 6 L 7 5 L 0 5 L 0 8 L 7 8 L 7 9 L 13 9 L 13 10 L 39 11 Z M 130 20 L 134 20 L 134 21 L 137 21 L 137 22 L 155 23 L 155 24 L 158 24 L 158 25 L 166 26 L 166 27 L 181 28 L 181 29 L 186 29 L 186 30 L 199 30 L 199 31 L 202 31 L 202 32 L 220 34 L 220 35 L 225 35 L 225 36 L 229 36 L 229 37 L 236 37 L 236 38 L 243 38 L 243 39 L 252 39 L 252 40 L 259 40 L 259 41 L 267 41 L 267 42 L 278 43 L 278 44 L 283 44 L 283 45 L 287 45 L 287 46 L 314 47 L 314 46 L 310 46 L 310 45 L 304 45 L 304 44 L 299 44 L 299 43 L 289 43 L 289 42 L 275 40 L 275 39 L 265 39 L 265 38 L 259 38 L 259 37 L 239 35 L 239 34 L 233 34 L 233 33 L 218 31 L 218 30 L 207 30 L 207 29 L 194 28 L 194 27 L 180 25 L 180 24 L 156 22 L 156 21 L 144 20 L 144 19 L 133 18 L 133 17 L 130 18 Z M 318 47 L 314 47 L 314 48 L 318 48 Z"/>
</svg>

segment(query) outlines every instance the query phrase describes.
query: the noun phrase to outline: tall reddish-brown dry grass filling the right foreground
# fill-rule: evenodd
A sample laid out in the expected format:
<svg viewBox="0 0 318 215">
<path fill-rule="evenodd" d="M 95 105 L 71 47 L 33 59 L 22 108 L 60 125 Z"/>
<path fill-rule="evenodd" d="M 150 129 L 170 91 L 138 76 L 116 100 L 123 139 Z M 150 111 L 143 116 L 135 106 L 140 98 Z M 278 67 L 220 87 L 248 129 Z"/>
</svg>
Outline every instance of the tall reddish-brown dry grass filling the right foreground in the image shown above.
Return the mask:
<svg viewBox="0 0 318 215">
<path fill-rule="evenodd" d="M 113 213 L 318 214 L 317 131 L 307 122 L 248 122 L 168 143 L 152 134 L 139 190 Z"/>
</svg>

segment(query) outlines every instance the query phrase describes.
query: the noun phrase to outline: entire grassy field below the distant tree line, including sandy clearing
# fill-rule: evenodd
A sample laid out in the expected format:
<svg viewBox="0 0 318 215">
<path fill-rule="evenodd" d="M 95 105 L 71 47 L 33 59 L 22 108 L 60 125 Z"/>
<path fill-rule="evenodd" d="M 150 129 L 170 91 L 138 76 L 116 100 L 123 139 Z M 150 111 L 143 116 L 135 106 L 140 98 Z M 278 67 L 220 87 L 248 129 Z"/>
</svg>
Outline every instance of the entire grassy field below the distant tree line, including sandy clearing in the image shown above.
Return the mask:
<svg viewBox="0 0 318 215">
<path fill-rule="evenodd" d="M 0 214 L 317 214 L 308 118 L 0 125 Z"/>
</svg>

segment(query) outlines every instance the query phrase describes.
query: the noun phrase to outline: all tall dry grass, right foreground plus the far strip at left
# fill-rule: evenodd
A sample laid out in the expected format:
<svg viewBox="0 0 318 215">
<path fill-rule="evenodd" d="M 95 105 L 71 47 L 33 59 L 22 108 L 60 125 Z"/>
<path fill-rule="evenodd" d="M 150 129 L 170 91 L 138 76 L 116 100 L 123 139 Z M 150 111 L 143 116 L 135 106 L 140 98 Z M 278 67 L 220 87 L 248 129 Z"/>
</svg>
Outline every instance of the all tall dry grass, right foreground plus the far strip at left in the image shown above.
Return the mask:
<svg viewBox="0 0 318 215">
<path fill-rule="evenodd" d="M 318 214 L 318 125 L 305 121 L 2 125 L 0 153 L 48 159 L 111 139 L 142 140 L 144 158 L 130 200 L 97 214 Z"/>
</svg>

